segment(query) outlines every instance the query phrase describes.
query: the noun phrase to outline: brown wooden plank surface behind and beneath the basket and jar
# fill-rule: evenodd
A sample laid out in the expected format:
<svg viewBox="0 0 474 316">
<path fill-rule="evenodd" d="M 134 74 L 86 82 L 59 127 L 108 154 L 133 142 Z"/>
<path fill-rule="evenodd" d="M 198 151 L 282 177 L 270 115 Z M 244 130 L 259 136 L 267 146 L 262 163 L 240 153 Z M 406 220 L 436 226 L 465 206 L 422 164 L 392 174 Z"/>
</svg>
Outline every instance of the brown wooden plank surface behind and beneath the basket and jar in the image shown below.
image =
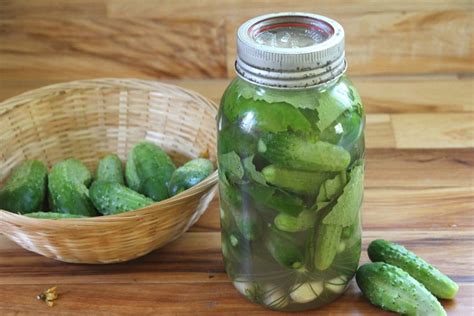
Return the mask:
<svg viewBox="0 0 474 316">
<path fill-rule="evenodd" d="M 461 285 L 448 313 L 474 315 L 472 0 L 0 0 L 0 100 L 138 77 L 218 101 L 234 76 L 236 28 L 289 10 L 337 19 L 347 34 L 367 109 L 364 245 L 383 237 L 432 261 Z M 230 285 L 219 238 L 217 201 L 183 238 L 126 264 L 63 264 L 0 237 L 0 314 L 268 313 Z M 52 309 L 35 300 L 51 285 L 61 293 Z M 312 313 L 383 314 L 354 284 Z"/>
</svg>

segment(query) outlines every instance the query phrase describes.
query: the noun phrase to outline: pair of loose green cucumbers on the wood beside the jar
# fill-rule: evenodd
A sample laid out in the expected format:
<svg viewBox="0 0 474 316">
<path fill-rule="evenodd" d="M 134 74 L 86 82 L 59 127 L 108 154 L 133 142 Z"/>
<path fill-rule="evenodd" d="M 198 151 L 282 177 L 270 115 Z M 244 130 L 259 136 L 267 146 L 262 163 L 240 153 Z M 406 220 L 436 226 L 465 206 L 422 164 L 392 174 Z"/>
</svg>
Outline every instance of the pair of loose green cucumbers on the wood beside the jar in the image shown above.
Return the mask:
<svg viewBox="0 0 474 316">
<path fill-rule="evenodd" d="M 373 262 L 358 269 L 356 280 L 372 304 L 402 315 L 446 315 L 436 297 L 454 298 L 459 286 L 453 280 L 405 247 L 383 239 L 372 241 L 368 254 Z"/>
</svg>

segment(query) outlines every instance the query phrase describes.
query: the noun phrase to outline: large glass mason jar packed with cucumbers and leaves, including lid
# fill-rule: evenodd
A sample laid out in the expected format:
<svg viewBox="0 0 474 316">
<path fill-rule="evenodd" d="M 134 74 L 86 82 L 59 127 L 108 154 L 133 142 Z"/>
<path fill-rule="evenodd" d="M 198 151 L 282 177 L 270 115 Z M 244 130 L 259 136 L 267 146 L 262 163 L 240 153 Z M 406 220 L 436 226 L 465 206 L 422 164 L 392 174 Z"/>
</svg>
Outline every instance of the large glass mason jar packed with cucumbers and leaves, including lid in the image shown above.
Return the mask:
<svg viewBox="0 0 474 316">
<path fill-rule="evenodd" d="M 218 116 L 225 268 L 253 302 L 316 308 L 344 292 L 361 253 L 365 118 L 344 75 L 344 31 L 269 14 L 237 43 Z"/>
</svg>

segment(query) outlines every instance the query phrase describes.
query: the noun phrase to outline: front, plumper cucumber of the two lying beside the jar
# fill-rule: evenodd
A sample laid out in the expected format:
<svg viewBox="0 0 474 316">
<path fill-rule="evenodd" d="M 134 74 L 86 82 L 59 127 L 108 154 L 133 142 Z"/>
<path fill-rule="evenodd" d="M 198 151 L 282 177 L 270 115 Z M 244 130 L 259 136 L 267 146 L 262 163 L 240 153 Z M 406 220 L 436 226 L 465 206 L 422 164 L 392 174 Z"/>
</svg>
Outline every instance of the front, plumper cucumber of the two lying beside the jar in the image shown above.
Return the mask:
<svg viewBox="0 0 474 316">
<path fill-rule="evenodd" d="M 364 296 L 383 309 L 409 316 L 446 315 L 436 297 L 396 266 L 364 264 L 357 270 L 356 280 Z"/>
</svg>

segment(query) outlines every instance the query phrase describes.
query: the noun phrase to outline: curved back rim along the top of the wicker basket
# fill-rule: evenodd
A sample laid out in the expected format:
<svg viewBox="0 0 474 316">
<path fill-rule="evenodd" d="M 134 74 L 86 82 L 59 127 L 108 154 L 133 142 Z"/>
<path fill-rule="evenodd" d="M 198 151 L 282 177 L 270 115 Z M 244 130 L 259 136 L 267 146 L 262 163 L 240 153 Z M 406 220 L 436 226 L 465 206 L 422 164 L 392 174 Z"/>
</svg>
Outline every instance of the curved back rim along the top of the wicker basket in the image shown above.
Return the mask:
<svg viewBox="0 0 474 316">
<path fill-rule="evenodd" d="M 150 91 L 153 91 L 156 88 L 173 89 L 175 91 L 180 91 L 183 94 L 193 95 L 195 97 L 198 97 L 199 99 L 202 99 L 204 102 L 212 105 L 216 111 L 219 108 L 218 105 L 214 101 L 204 97 L 199 92 L 186 89 L 174 84 L 164 83 L 158 80 L 150 80 L 150 79 L 102 77 L 102 78 L 81 79 L 81 80 L 53 83 L 53 84 L 42 86 L 33 90 L 22 92 L 18 95 L 7 98 L 0 102 L 0 116 L 8 113 L 9 111 L 16 108 L 17 106 L 21 106 L 22 104 L 30 101 L 31 99 L 33 99 L 33 97 L 37 98 L 39 94 L 47 95 L 54 92 L 61 92 L 65 89 L 86 90 L 86 89 L 116 88 L 116 87 L 123 87 L 123 88 L 129 88 L 129 89 L 135 88 L 135 89 L 150 90 Z"/>
</svg>

